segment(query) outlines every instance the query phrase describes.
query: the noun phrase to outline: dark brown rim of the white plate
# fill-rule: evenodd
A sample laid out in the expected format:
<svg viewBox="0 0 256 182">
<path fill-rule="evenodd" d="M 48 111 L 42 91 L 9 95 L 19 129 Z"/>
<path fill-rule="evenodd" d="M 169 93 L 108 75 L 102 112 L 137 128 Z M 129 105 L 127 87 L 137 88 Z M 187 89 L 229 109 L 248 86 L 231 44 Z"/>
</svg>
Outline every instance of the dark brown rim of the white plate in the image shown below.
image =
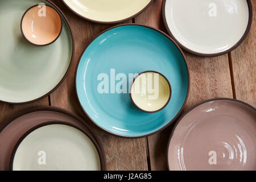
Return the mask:
<svg viewBox="0 0 256 182">
<path fill-rule="evenodd" d="M 169 26 L 167 24 L 167 20 L 166 20 L 166 1 L 167 0 L 163 0 L 163 4 L 162 4 L 162 19 L 163 19 L 164 27 L 166 28 L 166 30 L 167 30 L 168 34 L 171 36 L 171 38 L 174 39 L 175 42 L 177 42 L 177 44 L 179 44 L 179 46 L 181 48 L 183 48 L 185 51 L 188 51 L 188 52 L 192 53 L 193 55 L 197 55 L 197 56 L 215 57 L 215 56 L 225 55 L 226 53 L 229 53 L 229 52 L 233 51 L 238 46 L 240 46 L 240 44 L 243 42 L 243 40 L 245 40 L 246 36 L 248 35 L 248 33 L 250 31 L 251 24 L 252 24 L 252 21 L 253 21 L 253 8 L 252 8 L 252 5 L 251 5 L 251 1 L 250 0 L 246 0 L 247 1 L 247 5 L 248 5 L 248 9 L 249 9 L 249 19 L 248 19 L 246 30 L 245 30 L 245 32 L 242 35 L 242 38 L 240 40 L 238 40 L 238 42 L 236 44 L 234 44 L 232 47 L 230 47 L 226 51 L 217 52 L 217 53 L 201 53 L 201 52 L 196 52 L 196 51 L 193 51 L 193 50 L 183 46 L 183 44 L 181 44 L 175 38 L 175 36 L 172 34 L 172 32 L 171 32 L 171 30 L 170 30 L 170 28 L 169 28 Z"/>
</svg>

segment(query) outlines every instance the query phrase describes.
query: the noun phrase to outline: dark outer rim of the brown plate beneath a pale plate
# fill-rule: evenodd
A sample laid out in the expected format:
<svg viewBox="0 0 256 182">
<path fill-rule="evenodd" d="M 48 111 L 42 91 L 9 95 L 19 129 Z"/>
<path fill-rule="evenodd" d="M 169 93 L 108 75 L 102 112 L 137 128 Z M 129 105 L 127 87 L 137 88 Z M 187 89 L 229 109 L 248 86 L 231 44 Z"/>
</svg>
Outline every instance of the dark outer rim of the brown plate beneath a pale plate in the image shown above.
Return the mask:
<svg viewBox="0 0 256 182">
<path fill-rule="evenodd" d="M 69 115 L 69 117 L 75 118 L 77 121 L 79 121 L 82 125 L 85 126 L 86 129 L 88 129 L 89 134 L 92 136 L 92 138 L 96 141 L 98 144 L 100 151 L 99 155 L 101 152 L 102 155 L 102 171 L 106 170 L 106 154 L 103 149 L 102 143 L 100 138 L 96 135 L 95 132 L 92 132 L 92 127 L 88 125 L 87 122 L 85 122 L 84 119 L 82 119 L 79 115 L 71 113 L 71 111 L 62 109 L 60 107 L 55 107 L 55 106 L 35 106 L 35 107 L 29 107 L 27 109 L 20 110 L 14 114 L 11 114 L 9 117 L 7 117 L 3 122 L 0 123 L 0 133 L 2 132 L 3 129 L 5 129 L 6 126 L 8 126 L 11 122 L 13 122 L 15 119 L 22 117 L 22 115 L 34 113 L 36 111 L 55 111 L 58 113 L 63 113 L 65 115 Z"/>
</svg>

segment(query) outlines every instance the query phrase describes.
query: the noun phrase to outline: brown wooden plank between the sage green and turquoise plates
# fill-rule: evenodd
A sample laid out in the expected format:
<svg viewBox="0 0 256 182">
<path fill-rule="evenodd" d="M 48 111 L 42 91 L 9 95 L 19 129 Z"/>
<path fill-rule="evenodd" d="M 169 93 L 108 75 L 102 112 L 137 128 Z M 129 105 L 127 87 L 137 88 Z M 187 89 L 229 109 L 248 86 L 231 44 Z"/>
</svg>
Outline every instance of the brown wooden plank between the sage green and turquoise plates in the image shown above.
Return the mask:
<svg viewBox="0 0 256 182">
<path fill-rule="evenodd" d="M 64 4 L 59 0 L 53 1 L 71 23 L 75 42 L 75 57 L 71 71 L 64 83 L 51 94 L 51 105 L 59 106 L 68 109 L 75 114 L 79 114 L 82 118 L 93 127 L 94 133 L 100 137 L 106 154 L 106 162 L 108 170 L 147 170 L 146 159 L 146 143 L 144 138 L 140 139 L 125 139 L 114 137 L 98 129 L 88 117 L 82 112 L 75 93 L 75 69 L 81 53 L 90 43 L 92 38 L 104 31 L 106 28 L 113 26 L 113 24 L 98 24 L 92 23 L 73 14 Z M 131 22 L 131 21 L 130 21 Z"/>
</svg>

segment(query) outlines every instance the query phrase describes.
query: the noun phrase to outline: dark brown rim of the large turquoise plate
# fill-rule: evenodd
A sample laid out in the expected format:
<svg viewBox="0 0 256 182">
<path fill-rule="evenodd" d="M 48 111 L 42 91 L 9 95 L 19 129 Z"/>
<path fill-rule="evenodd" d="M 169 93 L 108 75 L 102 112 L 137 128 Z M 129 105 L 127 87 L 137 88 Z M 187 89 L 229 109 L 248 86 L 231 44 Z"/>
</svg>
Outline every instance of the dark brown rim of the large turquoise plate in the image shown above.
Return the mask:
<svg viewBox="0 0 256 182">
<path fill-rule="evenodd" d="M 159 130 L 156 130 L 154 131 L 153 133 L 149 133 L 149 134 L 146 134 L 146 135 L 139 135 L 139 136 L 135 136 L 135 137 L 131 137 L 131 136 L 127 136 L 127 135 L 119 135 L 117 133 L 113 133 L 112 131 L 109 131 L 109 130 L 106 130 L 104 127 L 98 125 L 98 123 L 96 123 L 90 116 L 89 114 L 85 111 L 84 107 L 82 106 L 80 100 L 79 100 L 79 96 L 78 96 L 78 93 L 77 93 L 77 70 L 78 70 L 78 67 L 79 67 L 79 64 L 81 62 L 81 58 L 82 56 L 84 55 L 86 49 L 88 49 L 88 47 L 90 46 L 90 44 L 92 44 L 94 42 L 94 40 L 96 40 L 100 35 L 104 34 L 105 32 L 109 31 L 109 30 L 112 30 L 114 28 L 117 28 L 117 27 L 124 27 L 124 26 L 141 26 L 141 27 L 146 27 L 146 28 L 149 28 L 151 30 L 155 30 L 156 32 L 159 32 L 160 34 L 166 36 L 166 38 L 168 38 L 172 43 L 174 43 L 174 45 L 177 47 L 177 49 L 179 49 L 179 52 L 181 53 L 181 56 L 183 56 L 183 59 L 184 59 L 184 63 L 185 63 L 185 66 L 187 68 L 187 73 L 188 73 L 188 89 L 187 89 L 187 94 L 186 94 L 186 97 L 185 97 L 185 100 L 183 102 L 183 105 L 181 106 L 179 112 L 175 115 L 175 117 L 170 121 L 168 122 L 165 126 L 163 126 L 162 128 L 160 128 Z M 77 61 L 77 65 L 76 65 L 76 71 L 75 71 L 75 81 L 74 81 L 74 84 L 75 84 L 75 91 L 76 91 L 76 97 L 77 97 L 77 100 L 79 101 L 79 105 L 82 109 L 82 111 L 84 112 L 84 114 L 86 115 L 86 117 L 88 117 L 90 119 L 91 122 L 94 123 L 94 125 L 96 125 L 98 128 L 100 128 L 101 130 L 105 131 L 106 133 L 108 134 L 111 134 L 115 137 L 121 137 L 121 138 L 143 138 L 143 137 L 148 137 L 150 135 L 153 135 L 153 134 L 156 134 L 158 133 L 159 131 L 162 131 L 164 129 L 166 129 L 168 126 L 170 126 L 180 115 L 181 111 L 183 111 L 184 107 L 185 107 L 185 104 L 187 103 L 187 100 L 188 100 L 188 96 L 189 96 L 189 92 L 190 92 L 190 85 L 191 85 L 191 76 L 190 76 L 190 72 L 189 72 L 189 69 L 188 69 L 188 61 L 182 51 L 182 49 L 179 47 L 179 45 L 175 42 L 175 40 L 173 40 L 169 35 L 167 35 L 166 33 L 164 33 L 163 31 L 161 30 L 158 30 L 154 27 L 151 27 L 151 26 L 146 26 L 144 24 L 138 24 L 138 23 L 125 23 L 125 24 L 118 24 L 116 26 L 113 26 L 113 27 L 110 27 L 102 32 L 100 32 L 100 34 L 94 36 L 94 38 L 89 42 L 88 46 L 86 46 L 86 48 L 84 49 L 84 51 L 82 51 L 81 55 L 80 55 L 80 58 L 79 58 L 79 61 Z"/>
</svg>

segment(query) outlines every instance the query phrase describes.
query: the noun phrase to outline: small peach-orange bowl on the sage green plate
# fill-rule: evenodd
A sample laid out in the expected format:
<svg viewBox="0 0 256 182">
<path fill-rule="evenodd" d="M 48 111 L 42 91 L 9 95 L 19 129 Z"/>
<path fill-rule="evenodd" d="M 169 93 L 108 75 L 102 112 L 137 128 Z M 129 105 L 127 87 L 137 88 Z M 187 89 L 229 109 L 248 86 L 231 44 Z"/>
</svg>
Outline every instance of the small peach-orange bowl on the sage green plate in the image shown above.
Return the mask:
<svg viewBox="0 0 256 182">
<path fill-rule="evenodd" d="M 35 46 L 47 46 L 55 42 L 61 34 L 62 27 L 59 12 L 48 5 L 30 7 L 20 22 L 22 35 Z"/>
</svg>

